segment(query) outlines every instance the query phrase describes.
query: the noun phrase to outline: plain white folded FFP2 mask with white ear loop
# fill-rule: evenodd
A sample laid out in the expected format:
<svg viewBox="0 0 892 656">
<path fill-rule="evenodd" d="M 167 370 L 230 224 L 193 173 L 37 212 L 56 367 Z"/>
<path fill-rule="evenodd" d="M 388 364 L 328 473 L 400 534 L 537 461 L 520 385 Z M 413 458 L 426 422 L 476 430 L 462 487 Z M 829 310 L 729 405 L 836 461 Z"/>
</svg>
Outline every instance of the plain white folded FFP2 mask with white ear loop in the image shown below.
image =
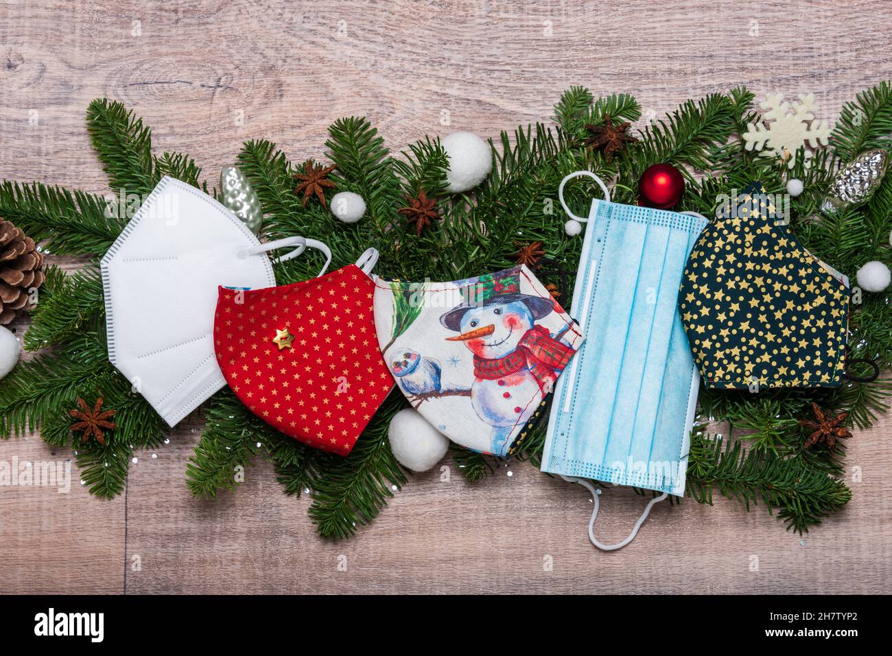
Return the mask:
<svg viewBox="0 0 892 656">
<path fill-rule="evenodd" d="M 226 381 L 214 357 L 218 286 L 276 284 L 266 250 L 235 215 L 164 177 L 102 260 L 109 359 L 173 426 Z M 288 258 L 285 256 L 283 259 Z"/>
</svg>

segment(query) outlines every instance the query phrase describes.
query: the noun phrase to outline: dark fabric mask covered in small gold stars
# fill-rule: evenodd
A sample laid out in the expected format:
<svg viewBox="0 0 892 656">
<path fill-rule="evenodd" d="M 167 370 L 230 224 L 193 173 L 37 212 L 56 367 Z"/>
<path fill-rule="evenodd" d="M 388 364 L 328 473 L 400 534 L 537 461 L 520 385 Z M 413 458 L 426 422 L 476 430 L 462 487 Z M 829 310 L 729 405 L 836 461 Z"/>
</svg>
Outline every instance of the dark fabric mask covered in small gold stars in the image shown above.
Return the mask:
<svg viewBox="0 0 892 656">
<path fill-rule="evenodd" d="M 777 221 L 762 184 L 719 214 L 690 253 L 678 300 L 706 387 L 838 387 L 847 278 Z"/>
</svg>

